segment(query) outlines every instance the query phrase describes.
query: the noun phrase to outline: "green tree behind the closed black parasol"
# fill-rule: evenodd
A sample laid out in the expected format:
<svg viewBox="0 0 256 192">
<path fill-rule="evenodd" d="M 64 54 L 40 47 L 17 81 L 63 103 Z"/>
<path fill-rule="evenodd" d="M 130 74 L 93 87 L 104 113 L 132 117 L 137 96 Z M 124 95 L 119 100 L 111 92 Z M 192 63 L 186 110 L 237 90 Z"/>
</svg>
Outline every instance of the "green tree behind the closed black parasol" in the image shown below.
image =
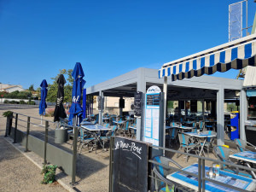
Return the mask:
<svg viewBox="0 0 256 192">
<path fill-rule="evenodd" d="M 64 102 L 71 102 L 72 101 L 72 89 L 73 89 L 73 77 L 72 77 L 73 69 L 61 69 L 55 78 L 53 79 L 52 84 L 48 84 L 48 94 L 46 97 L 47 102 L 56 102 L 57 99 L 57 92 L 58 92 L 58 84 L 57 80 L 61 74 L 63 74 L 67 81 L 67 83 L 64 86 Z"/>
</svg>

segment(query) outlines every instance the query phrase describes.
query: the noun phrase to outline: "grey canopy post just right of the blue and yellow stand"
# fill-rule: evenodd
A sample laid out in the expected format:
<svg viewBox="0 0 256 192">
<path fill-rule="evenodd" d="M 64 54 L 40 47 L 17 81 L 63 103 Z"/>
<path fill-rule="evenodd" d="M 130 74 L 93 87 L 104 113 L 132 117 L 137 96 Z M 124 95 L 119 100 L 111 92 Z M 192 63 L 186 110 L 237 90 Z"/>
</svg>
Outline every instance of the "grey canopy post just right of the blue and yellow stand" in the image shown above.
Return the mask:
<svg viewBox="0 0 256 192">
<path fill-rule="evenodd" d="M 247 95 L 246 90 L 240 91 L 240 138 L 246 140 L 245 121 L 247 120 Z"/>
</svg>

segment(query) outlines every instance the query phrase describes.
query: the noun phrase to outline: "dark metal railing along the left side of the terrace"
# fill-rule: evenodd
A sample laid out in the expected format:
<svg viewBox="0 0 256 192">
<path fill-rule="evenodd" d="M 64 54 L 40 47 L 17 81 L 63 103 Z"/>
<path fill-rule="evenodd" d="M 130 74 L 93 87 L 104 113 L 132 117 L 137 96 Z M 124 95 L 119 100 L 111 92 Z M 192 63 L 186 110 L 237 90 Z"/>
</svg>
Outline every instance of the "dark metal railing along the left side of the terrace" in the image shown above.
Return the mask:
<svg viewBox="0 0 256 192">
<path fill-rule="evenodd" d="M 41 122 L 41 124 L 39 125 L 35 121 Z M 42 122 L 44 122 L 44 124 L 42 124 Z M 15 125 L 15 126 L 13 127 L 12 125 Z M 35 125 L 35 127 L 33 127 L 34 128 L 33 132 L 32 132 L 31 125 Z M 18 138 L 18 134 L 17 134 L 18 131 L 23 132 L 23 134 L 26 136 L 25 152 L 29 151 L 29 148 L 28 148 L 29 136 L 37 137 L 40 140 L 43 140 L 44 141 L 44 164 L 47 164 L 49 163 L 47 160 L 47 146 L 48 146 L 49 140 L 50 140 L 49 144 L 54 143 L 55 127 L 61 127 L 61 126 L 62 126 L 61 123 L 57 123 L 57 122 L 53 122 L 45 119 L 42 120 L 35 117 L 30 117 L 21 113 L 13 113 L 12 117 L 7 118 L 5 137 L 8 137 L 8 136 L 13 137 L 14 139 L 13 143 L 17 143 L 18 139 L 20 141 L 20 138 Z M 75 176 L 76 176 L 76 162 L 77 162 L 77 142 L 78 142 L 79 127 L 75 125 L 73 126 L 63 125 L 63 126 L 73 129 L 73 165 L 70 165 L 70 166 L 73 167 L 71 184 L 75 184 L 76 183 Z"/>
</svg>

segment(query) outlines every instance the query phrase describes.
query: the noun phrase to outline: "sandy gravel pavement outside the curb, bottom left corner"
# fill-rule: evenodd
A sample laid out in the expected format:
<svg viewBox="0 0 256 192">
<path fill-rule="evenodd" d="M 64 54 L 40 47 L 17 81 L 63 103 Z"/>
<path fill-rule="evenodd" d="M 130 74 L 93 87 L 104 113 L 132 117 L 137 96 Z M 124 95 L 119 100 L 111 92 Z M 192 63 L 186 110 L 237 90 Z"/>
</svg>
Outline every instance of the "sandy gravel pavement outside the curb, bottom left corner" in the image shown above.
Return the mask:
<svg viewBox="0 0 256 192">
<path fill-rule="evenodd" d="M 66 191 L 59 183 L 41 184 L 41 170 L 0 137 L 0 191 Z"/>
</svg>

